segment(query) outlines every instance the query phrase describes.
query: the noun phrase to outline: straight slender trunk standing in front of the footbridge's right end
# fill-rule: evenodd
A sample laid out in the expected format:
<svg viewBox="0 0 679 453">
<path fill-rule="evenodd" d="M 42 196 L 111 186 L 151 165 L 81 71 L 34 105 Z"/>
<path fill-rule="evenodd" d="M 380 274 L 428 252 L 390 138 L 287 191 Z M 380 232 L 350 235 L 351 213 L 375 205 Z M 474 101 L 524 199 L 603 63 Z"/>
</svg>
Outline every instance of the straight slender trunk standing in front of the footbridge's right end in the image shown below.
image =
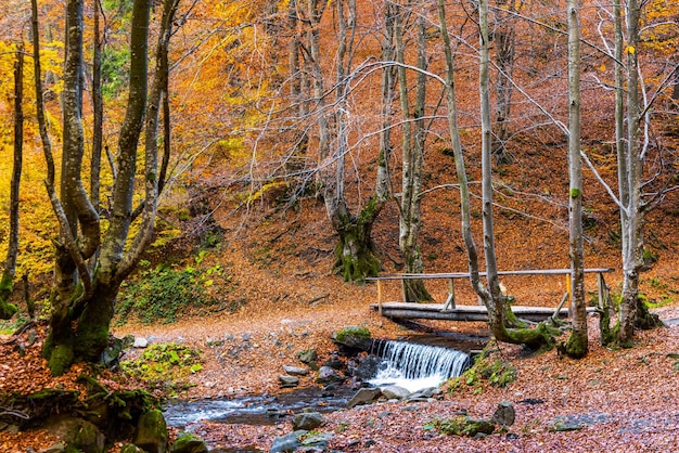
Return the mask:
<svg viewBox="0 0 679 453">
<path fill-rule="evenodd" d="M 587 307 L 582 253 L 582 164 L 580 157 L 580 24 L 578 0 L 568 0 L 568 196 L 571 236 L 571 313 L 573 332 L 564 352 L 574 359 L 587 354 Z"/>
</svg>

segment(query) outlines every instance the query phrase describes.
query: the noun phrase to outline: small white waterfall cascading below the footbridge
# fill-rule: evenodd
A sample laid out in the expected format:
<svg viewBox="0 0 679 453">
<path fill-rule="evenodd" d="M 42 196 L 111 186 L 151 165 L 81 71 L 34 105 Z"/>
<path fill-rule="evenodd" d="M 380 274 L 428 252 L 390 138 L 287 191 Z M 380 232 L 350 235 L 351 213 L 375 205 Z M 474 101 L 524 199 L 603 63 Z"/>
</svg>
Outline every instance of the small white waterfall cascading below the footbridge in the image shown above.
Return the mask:
<svg viewBox="0 0 679 453">
<path fill-rule="evenodd" d="M 448 348 L 407 341 L 376 342 L 376 355 L 383 359 L 369 383 L 374 386 L 397 385 L 410 391 L 437 387 L 469 366 L 469 354 Z"/>
</svg>

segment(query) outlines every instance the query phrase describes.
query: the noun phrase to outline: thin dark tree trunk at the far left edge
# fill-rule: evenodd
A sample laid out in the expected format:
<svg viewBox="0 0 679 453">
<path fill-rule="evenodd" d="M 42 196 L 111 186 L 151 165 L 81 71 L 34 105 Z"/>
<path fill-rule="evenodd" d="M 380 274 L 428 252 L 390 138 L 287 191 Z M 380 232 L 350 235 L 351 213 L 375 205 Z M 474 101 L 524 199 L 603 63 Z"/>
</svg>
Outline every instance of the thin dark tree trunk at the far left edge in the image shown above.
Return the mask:
<svg viewBox="0 0 679 453">
<path fill-rule="evenodd" d="M 14 161 L 10 182 L 10 234 L 8 254 L 0 280 L 0 320 L 9 320 L 16 313 L 16 306 L 10 303 L 16 273 L 18 255 L 18 203 L 22 179 L 24 146 L 24 49 L 17 47 L 14 63 Z"/>
</svg>

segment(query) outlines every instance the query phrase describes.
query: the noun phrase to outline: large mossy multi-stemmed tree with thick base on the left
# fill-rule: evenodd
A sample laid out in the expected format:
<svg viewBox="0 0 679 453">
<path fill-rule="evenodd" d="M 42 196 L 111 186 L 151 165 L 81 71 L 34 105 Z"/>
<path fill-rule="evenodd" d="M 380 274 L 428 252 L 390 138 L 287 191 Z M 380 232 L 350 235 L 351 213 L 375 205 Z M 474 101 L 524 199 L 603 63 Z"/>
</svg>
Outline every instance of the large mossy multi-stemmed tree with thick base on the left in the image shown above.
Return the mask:
<svg viewBox="0 0 679 453">
<path fill-rule="evenodd" d="M 34 0 L 34 35 L 38 36 L 35 3 Z M 48 161 L 46 185 L 60 223 L 52 315 L 43 347 L 43 355 L 54 375 L 63 374 L 76 361 L 100 360 L 108 345 L 110 324 L 120 284 L 132 272 L 152 237 L 162 185 L 158 177 L 157 134 L 161 100 L 167 96 L 167 64 L 163 62 L 167 55 L 178 3 L 179 0 L 164 1 L 156 72 L 150 90 L 148 30 L 151 3 L 150 0 L 136 0 L 133 4 L 129 100 L 118 140 L 118 171 L 111 195 L 111 218 L 108 228 L 102 234 L 100 218 L 82 184 L 84 3 L 82 0 L 66 2 L 68 36 L 64 65 L 64 148 L 59 195 L 54 187 L 49 137 L 41 133 Z M 39 46 L 34 46 L 34 51 L 38 75 L 36 79 L 39 80 Z M 41 108 L 39 103 L 39 111 Z M 40 121 L 40 113 L 38 119 Z M 144 126 L 144 156 L 139 159 L 139 140 Z M 43 127 L 42 120 L 41 131 Z M 145 178 L 143 187 L 136 189 L 138 159 L 144 163 Z M 143 202 L 133 207 L 136 192 L 143 192 Z M 132 236 L 130 226 L 134 221 L 139 222 L 139 228 Z M 89 259 L 93 260 L 90 266 L 87 263 Z"/>
</svg>

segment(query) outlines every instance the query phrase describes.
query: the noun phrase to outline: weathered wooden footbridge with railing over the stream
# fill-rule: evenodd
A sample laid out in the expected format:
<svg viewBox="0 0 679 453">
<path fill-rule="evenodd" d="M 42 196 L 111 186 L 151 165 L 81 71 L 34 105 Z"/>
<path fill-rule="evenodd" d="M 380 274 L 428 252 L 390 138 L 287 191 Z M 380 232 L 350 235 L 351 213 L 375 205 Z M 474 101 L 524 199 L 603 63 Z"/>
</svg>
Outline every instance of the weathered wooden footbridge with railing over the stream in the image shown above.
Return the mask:
<svg viewBox="0 0 679 453">
<path fill-rule="evenodd" d="M 597 268 L 585 269 L 585 273 L 597 274 L 597 290 L 599 298 L 599 306 L 603 307 L 605 300 L 608 297 L 608 288 L 604 281 L 603 274 L 613 272 L 613 269 Z M 523 307 L 512 306 L 512 311 L 517 318 L 529 321 L 542 321 L 551 316 L 568 318 L 569 308 L 563 308 L 564 302 L 569 299 L 571 295 L 571 279 L 573 271 L 571 269 L 542 269 L 542 270 L 516 270 L 516 271 L 499 271 L 498 275 L 565 275 L 566 279 L 566 294 L 561 299 L 558 307 Z M 481 276 L 485 276 L 486 273 L 479 273 Z M 382 298 L 382 284 L 385 281 L 400 281 L 401 285 L 406 280 L 432 280 L 432 279 L 445 279 L 448 280 L 448 297 L 444 303 L 413 303 L 405 300 L 406 292 L 402 292 L 403 300 L 400 301 L 383 301 Z M 470 279 L 469 273 L 456 272 L 456 273 L 436 273 L 436 274 L 388 274 L 379 277 L 367 279 L 374 281 L 377 284 L 377 303 L 372 303 L 370 307 L 376 310 L 381 315 L 393 319 L 406 319 L 406 320 L 443 320 L 443 321 L 487 321 L 488 312 L 483 305 L 476 306 L 463 306 L 456 303 L 454 296 L 454 281 L 458 279 Z M 403 287 L 403 286 L 401 286 Z M 588 308 L 588 311 L 595 311 L 595 307 Z"/>
</svg>

